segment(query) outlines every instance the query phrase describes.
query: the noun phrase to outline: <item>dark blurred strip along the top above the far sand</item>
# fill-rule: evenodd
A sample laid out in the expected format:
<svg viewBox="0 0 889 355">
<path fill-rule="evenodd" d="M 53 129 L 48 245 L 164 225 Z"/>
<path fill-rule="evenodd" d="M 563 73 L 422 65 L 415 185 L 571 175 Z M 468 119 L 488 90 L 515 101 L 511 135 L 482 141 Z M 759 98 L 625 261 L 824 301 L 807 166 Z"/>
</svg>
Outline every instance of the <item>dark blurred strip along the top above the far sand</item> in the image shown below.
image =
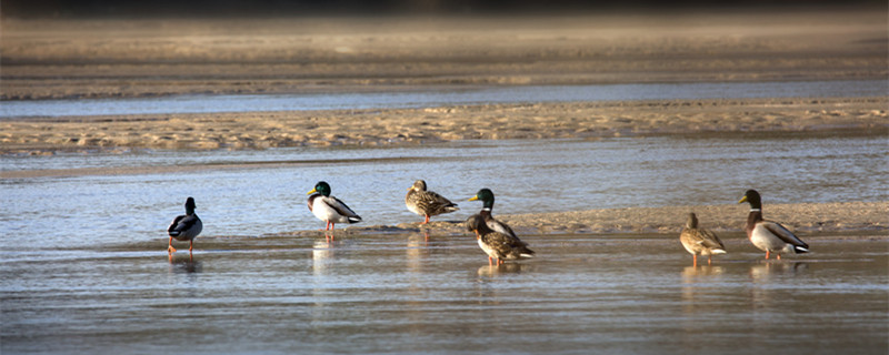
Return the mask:
<svg viewBox="0 0 889 355">
<path fill-rule="evenodd" d="M 2 0 L 14 18 L 83 17 L 292 17 L 377 14 L 560 14 L 577 12 L 681 11 L 686 9 L 886 7 L 886 0 Z"/>
</svg>

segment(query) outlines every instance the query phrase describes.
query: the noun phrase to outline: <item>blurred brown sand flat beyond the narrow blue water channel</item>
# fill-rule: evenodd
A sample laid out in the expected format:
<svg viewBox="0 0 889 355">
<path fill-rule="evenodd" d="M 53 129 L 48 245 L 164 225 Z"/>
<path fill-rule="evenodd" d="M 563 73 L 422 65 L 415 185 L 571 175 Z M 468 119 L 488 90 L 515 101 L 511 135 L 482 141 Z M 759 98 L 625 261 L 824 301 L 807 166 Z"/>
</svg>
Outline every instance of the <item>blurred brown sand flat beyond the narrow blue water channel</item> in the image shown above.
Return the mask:
<svg viewBox="0 0 889 355">
<path fill-rule="evenodd" d="M 523 17 L 4 18 L 0 99 L 886 80 L 873 9 Z"/>
</svg>

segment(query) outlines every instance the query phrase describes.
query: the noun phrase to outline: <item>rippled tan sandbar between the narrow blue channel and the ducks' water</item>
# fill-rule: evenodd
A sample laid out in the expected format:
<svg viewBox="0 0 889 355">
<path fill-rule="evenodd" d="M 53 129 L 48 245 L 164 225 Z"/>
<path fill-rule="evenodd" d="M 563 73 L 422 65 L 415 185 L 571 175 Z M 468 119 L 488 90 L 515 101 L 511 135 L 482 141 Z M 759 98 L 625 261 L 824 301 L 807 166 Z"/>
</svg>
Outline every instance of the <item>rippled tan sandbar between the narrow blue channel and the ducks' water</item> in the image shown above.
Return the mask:
<svg viewBox="0 0 889 355">
<path fill-rule="evenodd" d="M 452 140 L 889 132 L 883 98 L 663 100 L 426 109 L 164 114 L 0 121 L 0 153 L 268 149 Z M 119 150 L 126 152 L 126 150 Z"/>
</svg>

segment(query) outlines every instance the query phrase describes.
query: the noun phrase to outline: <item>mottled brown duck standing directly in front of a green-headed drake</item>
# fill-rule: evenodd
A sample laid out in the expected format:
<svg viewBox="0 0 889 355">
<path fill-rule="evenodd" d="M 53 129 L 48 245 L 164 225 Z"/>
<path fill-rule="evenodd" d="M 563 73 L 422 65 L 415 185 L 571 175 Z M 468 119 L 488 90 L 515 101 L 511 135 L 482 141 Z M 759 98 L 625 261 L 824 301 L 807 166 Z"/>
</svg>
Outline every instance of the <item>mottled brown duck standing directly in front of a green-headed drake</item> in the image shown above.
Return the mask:
<svg viewBox="0 0 889 355">
<path fill-rule="evenodd" d="M 493 265 L 493 260 L 497 260 L 497 265 L 502 265 L 505 260 L 519 260 L 522 257 L 533 257 L 535 252 L 528 248 L 528 243 L 522 242 L 518 237 L 511 237 L 507 234 L 491 230 L 485 217 L 480 214 L 473 214 L 466 221 L 467 230 L 476 233 L 476 240 L 479 247 L 488 254 L 488 265 Z"/>
</svg>

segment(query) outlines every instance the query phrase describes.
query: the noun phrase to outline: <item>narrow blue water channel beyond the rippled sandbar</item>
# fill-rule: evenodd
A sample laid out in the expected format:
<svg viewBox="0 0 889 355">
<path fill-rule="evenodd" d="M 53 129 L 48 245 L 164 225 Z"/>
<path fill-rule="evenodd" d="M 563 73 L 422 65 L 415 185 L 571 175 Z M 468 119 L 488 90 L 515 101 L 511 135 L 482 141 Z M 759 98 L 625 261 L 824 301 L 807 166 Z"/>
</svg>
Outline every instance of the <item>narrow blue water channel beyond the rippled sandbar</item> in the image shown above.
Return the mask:
<svg viewBox="0 0 889 355">
<path fill-rule="evenodd" d="M 178 95 L 138 99 L 23 100 L 0 102 L 1 118 L 212 113 L 303 110 L 427 108 L 453 104 L 881 97 L 883 80 L 788 81 L 729 83 L 643 83 L 606 85 L 531 85 L 476 90 L 416 90 L 410 92 Z"/>
</svg>

